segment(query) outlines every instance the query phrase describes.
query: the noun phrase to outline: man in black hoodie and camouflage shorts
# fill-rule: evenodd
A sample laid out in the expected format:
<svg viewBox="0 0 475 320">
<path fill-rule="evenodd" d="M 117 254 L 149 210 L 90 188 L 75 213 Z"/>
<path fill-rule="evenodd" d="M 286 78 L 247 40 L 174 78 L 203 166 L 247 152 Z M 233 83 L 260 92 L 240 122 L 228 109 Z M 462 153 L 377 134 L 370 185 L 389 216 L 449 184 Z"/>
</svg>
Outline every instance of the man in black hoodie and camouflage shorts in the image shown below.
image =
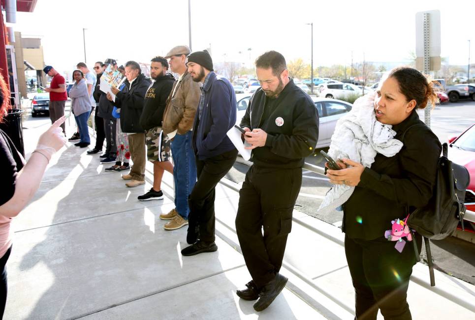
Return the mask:
<svg viewBox="0 0 475 320">
<path fill-rule="evenodd" d="M 170 144 L 168 136 L 161 130 L 163 111 L 166 107 L 166 99 L 173 88 L 175 78 L 167 74 L 168 61 L 156 56 L 150 65 L 150 75 L 155 82 L 145 94 L 145 104 L 140 116 L 140 126 L 146 130 L 145 143 L 147 145 L 147 158 L 154 164 L 154 184 L 144 195 L 138 196 L 140 201 L 161 200 L 161 178 L 166 171 L 173 174 L 173 164 L 170 158 Z"/>
</svg>

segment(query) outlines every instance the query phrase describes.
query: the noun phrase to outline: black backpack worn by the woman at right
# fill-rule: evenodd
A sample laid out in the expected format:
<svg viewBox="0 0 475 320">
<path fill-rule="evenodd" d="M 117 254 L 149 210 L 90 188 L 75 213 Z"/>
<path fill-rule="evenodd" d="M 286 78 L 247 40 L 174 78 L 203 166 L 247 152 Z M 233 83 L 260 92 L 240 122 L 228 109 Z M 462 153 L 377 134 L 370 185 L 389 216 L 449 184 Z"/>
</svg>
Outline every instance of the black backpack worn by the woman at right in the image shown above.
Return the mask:
<svg viewBox="0 0 475 320">
<path fill-rule="evenodd" d="M 413 126 L 415 125 L 411 127 Z M 403 133 L 403 137 L 406 132 Z M 447 238 L 454 233 L 459 222 L 462 223 L 463 229 L 463 218 L 466 211 L 465 190 L 470 183 L 467 168 L 448 160 L 447 149 L 447 143 L 443 143 L 442 157 L 439 158 L 437 164 L 437 180 L 429 203 L 423 208 L 414 210 L 408 218 L 410 229 L 415 230 L 424 238 L 432 287 L 435 286 L 435 279 L 429 239 Z M 412 237 L 412 239 L 416 260 L 419 262 L 420 253 L 417 250 L 415 238 Z"/>
</svg>

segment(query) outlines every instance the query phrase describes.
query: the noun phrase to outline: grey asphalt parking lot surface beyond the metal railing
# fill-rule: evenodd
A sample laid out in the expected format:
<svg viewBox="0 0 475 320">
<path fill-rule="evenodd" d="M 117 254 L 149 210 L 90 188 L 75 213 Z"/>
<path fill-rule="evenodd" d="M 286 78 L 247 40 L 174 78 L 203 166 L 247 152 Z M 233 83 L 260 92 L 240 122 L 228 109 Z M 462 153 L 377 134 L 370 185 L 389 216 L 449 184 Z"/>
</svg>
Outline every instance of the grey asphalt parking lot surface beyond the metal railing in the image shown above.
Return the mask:
<svg viewBox="0 0 475 320">
<path fill-rule="evenodd" d="M 423 110 L 419 111 L 419 116 L 422 120 L 424 119 Z M 441 142 L 446 142 L 449 137 L 462 133 L 474 123 L 474 101 L 445 103 L 435 107 L 431 112 L 431 128 Z M 327 151 L 327 149 L 320 150 Z M 308 157 L 305 161 L 318 166 L 323 166 L 325 162 L 319 155 L 319 150 L 316 150 L 314 156 Z M 236 162 L 226 177 L 234 182 L 241 183 L 244 181 L 247 169 L 247 165 Z M 295 204 L 295 209 L 340 227 L 343 213 L 334 211 L 333 213 L 322 215 L 317 212 L 322 198 L 329 188 L 328 179 L 304 170 L 302 187 Z M 431 251 L 436 268 L 475 284 L 475 244 L 449 237 L 444 240 L 432 241 Z M 426 259 L 424 247 L 421 258 Z"/>
</svg>

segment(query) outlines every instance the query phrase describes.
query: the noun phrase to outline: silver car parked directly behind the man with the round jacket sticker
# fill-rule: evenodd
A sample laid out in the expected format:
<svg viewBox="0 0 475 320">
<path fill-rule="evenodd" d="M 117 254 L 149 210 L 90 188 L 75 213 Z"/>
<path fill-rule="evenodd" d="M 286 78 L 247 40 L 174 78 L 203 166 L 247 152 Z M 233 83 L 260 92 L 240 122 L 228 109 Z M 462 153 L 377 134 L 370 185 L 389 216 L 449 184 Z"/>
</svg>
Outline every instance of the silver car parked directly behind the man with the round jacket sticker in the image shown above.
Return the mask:
<svg viewBox="0 0 475 320">
<path fill-rule="evenodd" d="M 252 95 L 236 95 L 237 116 L 236 124 L 241 123 L 241 119 L 246 113 Z M 352 105 L 345 101 L 336 99 L 323 99 L 312 97 L 317 108 L 320 127 L 318 129 L 317 148 L 325 148 L 330 145 L 331 136 L 335 132 L 335 126 L 342 116 L 351 110 Z"/>
</svg>

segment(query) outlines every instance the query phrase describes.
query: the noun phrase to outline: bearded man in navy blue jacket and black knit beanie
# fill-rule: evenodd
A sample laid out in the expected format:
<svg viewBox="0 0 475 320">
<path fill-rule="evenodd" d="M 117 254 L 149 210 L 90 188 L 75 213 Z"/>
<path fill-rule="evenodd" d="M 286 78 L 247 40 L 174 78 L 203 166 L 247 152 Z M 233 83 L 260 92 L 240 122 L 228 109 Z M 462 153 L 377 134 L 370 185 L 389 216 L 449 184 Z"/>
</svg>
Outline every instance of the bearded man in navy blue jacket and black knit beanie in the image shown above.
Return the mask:
<svg viewBox="0 0 475 320">
<path fill-rule="evenodd" d="M 229 80 L 213 72 L 207 51 L 190 53 L 187 67 L 195 82 L 202 82 L 194 117 L 192 147 L 198 180 L 188 198 L 188 243 L 182 255 L 218 250 L 215 244 L 215 187 L 229 171 L 237 150 L 226 133 L 236 122 L 236 95 Z"/>
</svg>

